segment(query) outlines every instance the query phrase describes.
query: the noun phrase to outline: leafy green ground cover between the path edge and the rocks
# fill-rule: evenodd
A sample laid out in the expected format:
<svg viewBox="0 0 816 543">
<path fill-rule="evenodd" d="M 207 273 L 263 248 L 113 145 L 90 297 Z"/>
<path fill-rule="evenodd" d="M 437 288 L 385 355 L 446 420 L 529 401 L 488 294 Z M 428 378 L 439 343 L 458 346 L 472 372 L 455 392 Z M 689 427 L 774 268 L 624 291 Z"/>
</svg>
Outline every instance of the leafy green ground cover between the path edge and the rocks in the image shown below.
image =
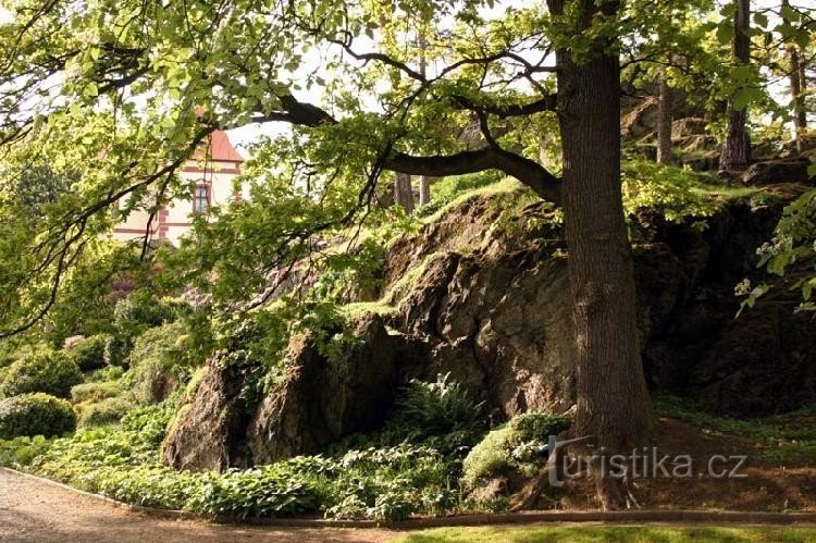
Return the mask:
<svg viewBox="0 0 816 543">
<path fill-rule="evenodd" d="M 435 412 L 440 405 L 461 403 L 468 410 L 460 408 L 460 414 L 475 412 L 455 386 L 442 382 L 456 397 L 431 400 L 420 394 L 424 399 L 407 400 L 418 409 L 410 419 L 429 420 L 422 406 Z M 460 502 L 456 472 L 443 455 L 407 442 L 295 457 L 221 474 L 175 471 L 161 465 L 158 456 L 175 399 L 131 410 L 118 427 L 81 429 L 71 437 L 51 441 L 0 442 L 0 464 L 127 503 L 228 517 L 322 513 L 333 518 L 395 520 L 417 513 L 443 514 Z"/>
</svg>

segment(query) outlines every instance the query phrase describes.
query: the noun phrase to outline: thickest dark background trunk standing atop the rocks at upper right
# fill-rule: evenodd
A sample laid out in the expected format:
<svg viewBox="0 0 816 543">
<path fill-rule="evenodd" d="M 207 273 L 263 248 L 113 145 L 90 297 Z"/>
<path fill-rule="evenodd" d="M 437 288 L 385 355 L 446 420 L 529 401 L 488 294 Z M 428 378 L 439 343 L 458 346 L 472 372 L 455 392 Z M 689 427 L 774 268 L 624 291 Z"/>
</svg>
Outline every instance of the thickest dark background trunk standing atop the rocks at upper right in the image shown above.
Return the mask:
<svg viewBox="0 0 816 543">
<path fill-rule="evenodd" d="M 740 64 L 751 62 L 751 37 L 747 35 L 751 25 L 750 0 L 734 0 L 734 34 L 732 51 L 734 59 Z M 747 168 L 751 160 L 751 139 L 747 128 L 747 108 L 737 109 L 733 100 L 728 100 L 726 109 L 728 125 L 726 127 L 726 141 L 719 158 L 719 169 L 724 173 L 739 172 Z"/>
</svg>

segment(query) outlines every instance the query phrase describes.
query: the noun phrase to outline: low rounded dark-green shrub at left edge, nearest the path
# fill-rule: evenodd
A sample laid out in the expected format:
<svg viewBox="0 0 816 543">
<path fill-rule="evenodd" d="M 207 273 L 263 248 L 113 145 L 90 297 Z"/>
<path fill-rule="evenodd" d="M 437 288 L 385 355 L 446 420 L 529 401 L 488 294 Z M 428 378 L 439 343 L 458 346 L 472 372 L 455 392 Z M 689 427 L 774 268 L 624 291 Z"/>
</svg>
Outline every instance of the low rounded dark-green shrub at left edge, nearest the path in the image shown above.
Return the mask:
<svg viewBox="0 0 816 543">
<path fill-rule="evenodd" d="M 75 428 L 76 415 L 64 399 L 42 393 L 0 399 L 0 439 L 60 435 Z"/>
</svg>

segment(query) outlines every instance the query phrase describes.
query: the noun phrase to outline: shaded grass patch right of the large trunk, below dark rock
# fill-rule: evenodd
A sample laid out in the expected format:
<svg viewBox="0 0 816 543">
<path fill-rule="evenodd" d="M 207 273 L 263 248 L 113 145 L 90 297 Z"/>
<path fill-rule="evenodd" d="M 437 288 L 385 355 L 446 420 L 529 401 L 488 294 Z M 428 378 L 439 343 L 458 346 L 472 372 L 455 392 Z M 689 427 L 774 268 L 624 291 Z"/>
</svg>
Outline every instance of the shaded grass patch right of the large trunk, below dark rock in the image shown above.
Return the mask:
<svg viewBox="0 0 816 543">
<path fill-rule="evenodd" d="M 658 395 L 657 412 L 704 430 L 740 435 L 762 445 L 759 456 L 767 460 L 796 460 L 816 457 L 816 406 L 757 419 L 716 417 L 690 399 Z"/>
</svg>

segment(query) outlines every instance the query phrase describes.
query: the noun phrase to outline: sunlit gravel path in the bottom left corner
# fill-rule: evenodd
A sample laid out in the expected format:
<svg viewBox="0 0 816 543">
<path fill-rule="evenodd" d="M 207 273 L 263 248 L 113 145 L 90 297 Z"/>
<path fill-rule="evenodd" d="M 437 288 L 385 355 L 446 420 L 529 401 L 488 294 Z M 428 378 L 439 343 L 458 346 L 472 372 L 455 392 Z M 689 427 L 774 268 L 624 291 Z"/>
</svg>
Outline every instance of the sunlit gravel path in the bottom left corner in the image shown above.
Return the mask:
<svg viewBox="0 0 816 543">
<path fill-rule="evenodd" d="M 372 542 L 388 530 L 274 528 L 170 520 L 132 513 L 0 470 L 0 541 L 14 542 Z"/>
</svg>

